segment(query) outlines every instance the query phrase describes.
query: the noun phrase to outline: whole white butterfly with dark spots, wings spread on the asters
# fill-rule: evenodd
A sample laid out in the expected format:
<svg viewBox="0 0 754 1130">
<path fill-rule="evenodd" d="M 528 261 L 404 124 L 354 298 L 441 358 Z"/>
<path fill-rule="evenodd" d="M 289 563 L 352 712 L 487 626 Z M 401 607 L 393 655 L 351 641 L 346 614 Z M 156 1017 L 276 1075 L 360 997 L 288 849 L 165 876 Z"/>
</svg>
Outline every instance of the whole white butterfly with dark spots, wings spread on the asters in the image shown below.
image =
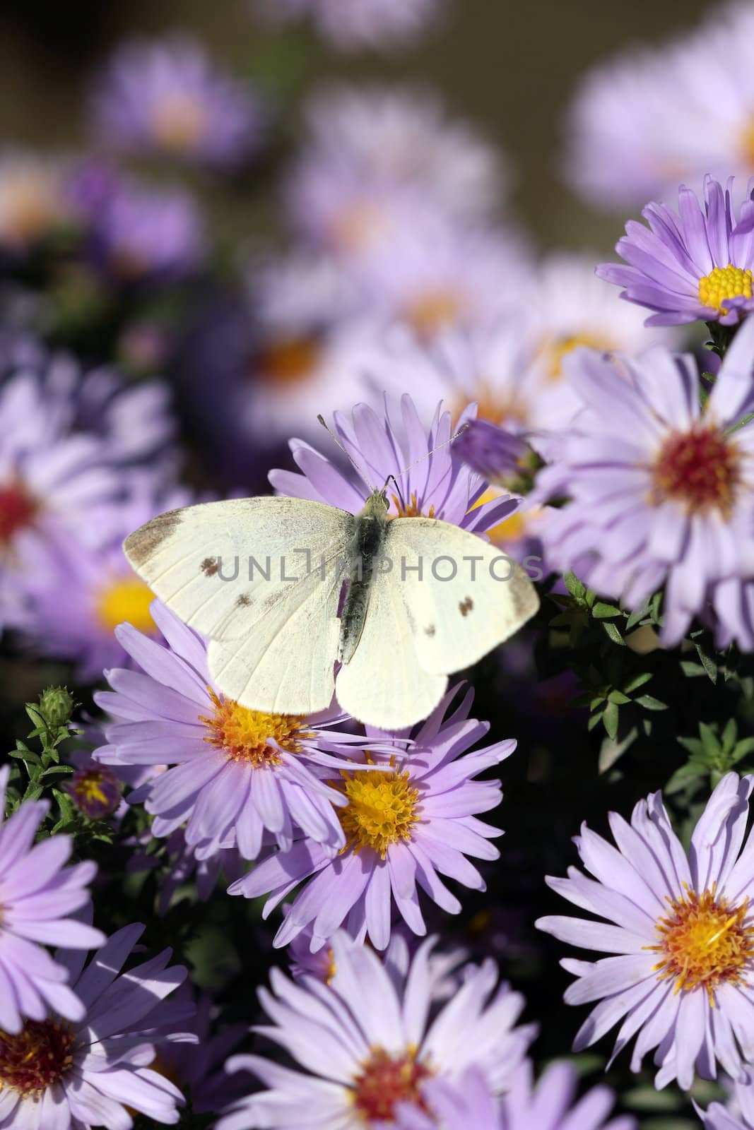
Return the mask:
<svg viewBox="0 0 754 1130">
<path fill-rule="evenodd" d="M 387 488 L 356 515 L 304 498 L 205 503 L 158 515 L 123 548 L 209 636 L 209 671 L 228 698 L 310 714 L 335 692 L 358 721 L 397 730 L 425 719 L 448 676 L 511 636 L 539 600 L 520 566 L 476 534 L 390 519 L 388 506 Z"/>
</svg>

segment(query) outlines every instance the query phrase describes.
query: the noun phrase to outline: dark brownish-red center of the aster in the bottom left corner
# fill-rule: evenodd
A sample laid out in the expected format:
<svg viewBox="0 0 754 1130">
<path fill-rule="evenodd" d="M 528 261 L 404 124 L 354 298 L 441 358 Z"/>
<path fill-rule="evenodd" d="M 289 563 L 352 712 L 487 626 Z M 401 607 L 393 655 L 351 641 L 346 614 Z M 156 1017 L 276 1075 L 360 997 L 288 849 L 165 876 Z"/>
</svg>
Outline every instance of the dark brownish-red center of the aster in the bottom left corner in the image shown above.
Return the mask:
<svg viewBox="0 0 754 1130">
<path fill-rule="evenodd" d="M 0 1031 L 0 1089 L 21 1095 L 45 1090 L 73 1061 L 73 1033 L 63 1023 L 28 1020 L 17 1036 Z"/>
</svg>

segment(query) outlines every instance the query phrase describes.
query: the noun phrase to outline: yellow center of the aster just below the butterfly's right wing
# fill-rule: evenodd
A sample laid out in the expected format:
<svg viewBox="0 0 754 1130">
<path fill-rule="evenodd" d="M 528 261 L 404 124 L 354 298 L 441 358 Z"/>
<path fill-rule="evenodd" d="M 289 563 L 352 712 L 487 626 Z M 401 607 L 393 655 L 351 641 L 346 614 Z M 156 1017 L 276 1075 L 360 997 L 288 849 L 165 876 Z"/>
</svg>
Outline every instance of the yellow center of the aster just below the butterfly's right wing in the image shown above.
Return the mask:
<svg viewBox="0 0 754 1130">
<path fill-rule="evenodd" d="M 408 770 L 402 773 L 380 770 L 341 771 L 340 791 L 348 798 L 346 808 L 337 809 L 346 835 L 346 847 L 361 851 L 372 847 L 382 859 L 390 844 L 410 840 L 418 819 L 419 791 L 413 788 Z"/>
</svg>

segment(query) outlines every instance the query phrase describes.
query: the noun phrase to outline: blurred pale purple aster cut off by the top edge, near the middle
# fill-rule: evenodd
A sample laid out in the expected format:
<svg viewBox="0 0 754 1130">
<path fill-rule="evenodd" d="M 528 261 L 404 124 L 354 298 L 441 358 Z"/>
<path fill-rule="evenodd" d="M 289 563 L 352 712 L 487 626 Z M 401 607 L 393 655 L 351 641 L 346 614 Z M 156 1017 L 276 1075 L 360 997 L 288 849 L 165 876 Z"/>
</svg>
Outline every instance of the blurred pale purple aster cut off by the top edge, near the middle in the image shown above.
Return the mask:
<svg viewBox="0 0 754 1130">
<path fill-rule="evenodd" d="M 258 0 L 277 23 L 309 18 L 339 51 L 413 43 L 437 18 L 443 0 Z"/>
</svg>

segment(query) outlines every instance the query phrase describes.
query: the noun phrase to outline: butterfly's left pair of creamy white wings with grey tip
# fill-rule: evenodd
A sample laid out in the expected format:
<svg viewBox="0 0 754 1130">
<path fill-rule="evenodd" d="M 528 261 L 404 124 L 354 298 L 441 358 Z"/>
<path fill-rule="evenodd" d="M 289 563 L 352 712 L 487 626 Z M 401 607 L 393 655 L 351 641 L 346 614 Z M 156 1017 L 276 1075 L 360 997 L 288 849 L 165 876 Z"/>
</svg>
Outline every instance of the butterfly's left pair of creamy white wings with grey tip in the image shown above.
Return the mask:
<svg viewBox="0 0 754 1130">
<path fill-rule="evenodd" d="M 243 498 L 161 514 L 124 549 L 153 592 L 210 637 L 209 670 L 225 695 L 303 714 L 332 697 L 353 530 L 352 514 L 323 503 Z"/>
</svg>

